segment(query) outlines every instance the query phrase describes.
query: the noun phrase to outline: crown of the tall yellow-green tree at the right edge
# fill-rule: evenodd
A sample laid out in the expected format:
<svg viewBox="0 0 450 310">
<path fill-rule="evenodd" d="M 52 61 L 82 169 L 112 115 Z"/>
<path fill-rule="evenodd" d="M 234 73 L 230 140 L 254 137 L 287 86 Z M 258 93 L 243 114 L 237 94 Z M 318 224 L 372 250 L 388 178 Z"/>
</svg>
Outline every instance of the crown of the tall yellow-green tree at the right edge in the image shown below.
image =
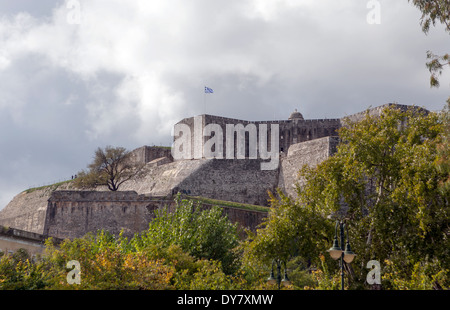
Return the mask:
<svg viewBox="0 0 450 310">
<path fill-rule="evenodd" d="M 442 132 L 436 114 L 392 108 L 340 131 L 345 143 L 334 160 L 343 163 L 337 175 L 343 185 L 335 197 L 348 206 L 362 261 L 427 255 L 445 261 L 449 206 L 439 183 L 448 175 L 436 168 Z"/>
</svg>

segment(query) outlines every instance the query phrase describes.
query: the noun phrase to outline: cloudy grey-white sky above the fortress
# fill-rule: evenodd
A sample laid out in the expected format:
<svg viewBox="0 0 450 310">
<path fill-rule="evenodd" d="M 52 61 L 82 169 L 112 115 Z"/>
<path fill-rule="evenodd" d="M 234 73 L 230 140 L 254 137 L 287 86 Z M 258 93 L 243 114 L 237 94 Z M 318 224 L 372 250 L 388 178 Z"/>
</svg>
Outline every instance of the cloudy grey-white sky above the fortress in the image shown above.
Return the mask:
<svg viewBox="0 0 450 310">
<path fill-rule="evenodd" d="M 426 51 L 448 52 L 449 35 L 420 16 L 407 0 L 0 0 L 0 208 L 99 146 L 170 145 L 175 122 L 205 112 L 440 110 L 449 73 L 430 89 Z"/>
</svg>

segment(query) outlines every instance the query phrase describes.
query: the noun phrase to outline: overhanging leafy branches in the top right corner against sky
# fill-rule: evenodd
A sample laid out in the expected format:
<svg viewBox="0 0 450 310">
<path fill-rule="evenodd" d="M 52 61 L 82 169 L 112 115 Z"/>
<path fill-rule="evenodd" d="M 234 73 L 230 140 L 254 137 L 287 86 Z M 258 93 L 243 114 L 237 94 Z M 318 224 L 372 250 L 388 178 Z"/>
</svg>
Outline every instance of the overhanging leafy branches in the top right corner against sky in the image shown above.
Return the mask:
<svg viewBox="0 0 450 310">
<path fill-rule="evenodd" d="M 431 24 L 434 26 L 436 21 L 441 22 L 445 30 L 450 33 L 450 2 L 448 0 L 408 0 L 410 1 L 422 12 L 421 26 L 425 34 L 428 34 Z M 439 87 L 438 76 L 442 74 L 445 66 L 450 65 L 450 55 L 439 56 L 428 51 L 427 59 L 430 60 L 426 64 L 431 73 L 430 85 Z"/>
</svg>

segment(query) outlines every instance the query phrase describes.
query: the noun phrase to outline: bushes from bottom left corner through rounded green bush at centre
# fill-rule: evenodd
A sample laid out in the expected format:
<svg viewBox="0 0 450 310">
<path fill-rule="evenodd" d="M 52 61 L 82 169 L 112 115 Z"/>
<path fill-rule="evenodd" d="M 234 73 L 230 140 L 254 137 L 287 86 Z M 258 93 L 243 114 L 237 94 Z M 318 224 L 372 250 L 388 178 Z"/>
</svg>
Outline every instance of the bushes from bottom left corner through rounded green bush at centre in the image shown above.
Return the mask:
<svg viewBox="0 0 450 310">
<path fill-rule="evenodd" d="M 4 255 L 0 289 L 251 288 L 258 277 L 236 264 L 237 243 L 236 225 L 220 209 L 200 210 L 178 200 L 174 214 L 161 211 L 147 232 L 131 239 L 99 231 L 58 247 L 49 239 L 36 262 L 25 251 Z M 73 260 L 81 267 L 80 284 L 67 281 L 67 263 Z"/>
</svg>

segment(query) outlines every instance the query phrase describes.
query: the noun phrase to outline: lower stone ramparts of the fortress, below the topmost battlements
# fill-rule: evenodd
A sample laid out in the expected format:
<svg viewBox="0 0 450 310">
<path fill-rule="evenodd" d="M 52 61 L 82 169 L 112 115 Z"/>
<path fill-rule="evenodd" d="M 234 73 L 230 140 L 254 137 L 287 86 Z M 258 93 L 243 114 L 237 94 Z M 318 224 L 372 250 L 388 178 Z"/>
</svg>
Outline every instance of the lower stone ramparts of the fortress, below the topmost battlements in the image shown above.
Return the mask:
<svg viewBox="0 0 450 310">
<path fill-rule="evenodd" d="M 297 172 L 331 156 L 337 138 L 294 144 L 281 155 L 279 168 L 261 170 L 260 160 L 198 159 L 147 163 L 143 176 L 123 184 L 121 191 L 74 190 L 69 183 L 17 195 L 2 211 L 0 224 L 58 238 L 75 238 L 106 229 L 127 236 L 145 230 L 154 211 L 173 207 L 177 193 L 241 204 L 267 206 L 268 191 L 277 187 L 295 196 Z M 202 202 L 202 205 L 206 205 Z M 265 213 L 220 205 L 232 222 L 255 230 Z"/>
</svg>

